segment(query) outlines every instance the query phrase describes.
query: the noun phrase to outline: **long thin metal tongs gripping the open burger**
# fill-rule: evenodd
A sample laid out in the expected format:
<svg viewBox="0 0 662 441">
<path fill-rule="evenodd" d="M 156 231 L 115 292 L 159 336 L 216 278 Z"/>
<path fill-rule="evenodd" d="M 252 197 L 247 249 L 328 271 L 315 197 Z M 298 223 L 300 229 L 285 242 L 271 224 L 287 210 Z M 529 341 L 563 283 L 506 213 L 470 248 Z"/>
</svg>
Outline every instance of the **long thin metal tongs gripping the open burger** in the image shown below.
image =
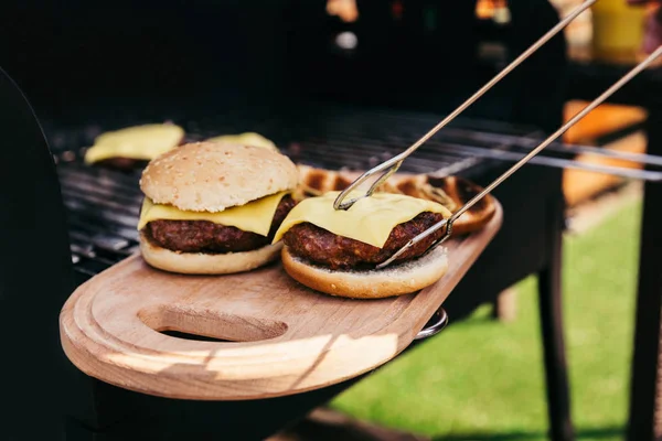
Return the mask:
<svg viewBox="0 0 662 441">
<path fill-rule="evenodd" d="M 401 154 L 391 158 L 389 160 L 381 163 L 377 166 L 369 170 L 359 176 L 350 186 L 348 186 L 344 191 L 342 191 L 335 201 L 333 202 L 333 207 L 335 209 L 349 209 L 356 201 L 370 197 L 375 190 L 382 185 L 392 174 L 394 174 L 402 163 L 404 162 L 409 154 L 412 154 L 418 147 L 420 147 L 425 141 L 427 141 L 431 136 L 434 136 L 439 129 L 448 125 L 458 115 L 460 115 L 465 109 L 471 106 L 478 98 L 480 98 L 485 92 L 488 92 L 492 86 L 494 86 L 499 80 L 501 80 L 505 75 L 508 75 L 511 71 L 513 71 L 520 63 L 526 60 L 531 54 L 533 54 L 536 50 L 538 50 L 543 44 L 549 41 L 556 33 L 563 30 L 570 21 L 573 21 L 577 15 L 579 15 L 584 10 L 595 3 L 597 0 L 588 0 L 577 7 L 572 13 L 569 13 L 564 20 L 562 20 L 556 26 L 549 30 L 545 35 L 543 35 L 537 42 L 535 42 L 531 47 L 528 47 L 525 52 L 523 52 L 517 58 L 515 58 L 510 65 L 508 65 L 503 71 L 501 71 L 494 78 L 492 78 L 488 84 L 485 84 L 481 89 L 479 89 L 476 94 L 473 94 L 467 101 L 465 101 L 460 107 L 458 107 L 452 114 L 447 116 L 441 122 L 439 122 L 436 127 L 434 127 L 429 132 L 423 136 L 418 141 L 416 141 L 412 147 L 402 152 Z M 651 53 L 644 61 L 633 67 L 630 72 L 623 75 L 618 82 L 616 82 L 611 87 L 605 90 L 598 98 L 587 105 L 581 111 L 577 112 L 569 121 L 567 121 L 564 126 L 562 126 L 558 130 L 556 130 L 553 135 L 551 135 L 547 139 L 545 139 L 542 143 L 540 143 L 535 149 L 528 152 L 525 157 L 523 157 L 520 161 L 517 161 L 513 166 L 511 166 L 508 171 L 505 171 L 501 176 L 494 180 L 491 184 L 489 184 L 483 191 L 472 197 L 469 202 L 462 205 L 456 213 L 453 213 L 449 218 L 444 219 L 425 232 L 420 233 L 418 236 L 410 239 L 405 246 L 398 249 L 393 256 L 391 256 L 387 260 L 376 266 L 377 269 L 384 268 L 393 261 L 395 261 L 403 252 L 409 249 L 415 244 L 425 239 L 429 235 L 435 232 L 446 227 L 446 233 L 442 237 L 437 239 L 434 244 L 428 247 L 426 252 L 429 252 L 436 246 L 446 241 L 450 235 L 452 234 L 452 224 L 457 220 L 462 214 L 465 214 L 469 208 L 471 208 L 477 202 L 488 195 L 492 190 L 494 190 L 499 184 L 510 178 L 514 172 L 516 172 L 522 165 L 528 162 L 533 157 L 540 153 L 544 148 L 553 143 L 558 137 L 565 133 L 570 127 L 577 123 L 581 118 L 584 118 L 588 112 L 602 104 L 607 98 L 609 98 L 613 93 L 620 89 L 623 85 L 630 82 L 634 76 L 645 69 L 655 58 L 662 55 L 662 45 L 658 47 L 653 53 Z M 365 182 L 369 178 L 382 172 L 380 178 L 370 186 L 370 189 L 365 192 L 365 194 L 354 197 L 348 202 L 343 202 L 348 195 L 354 191 L 359 185 Z"/>
</svg>

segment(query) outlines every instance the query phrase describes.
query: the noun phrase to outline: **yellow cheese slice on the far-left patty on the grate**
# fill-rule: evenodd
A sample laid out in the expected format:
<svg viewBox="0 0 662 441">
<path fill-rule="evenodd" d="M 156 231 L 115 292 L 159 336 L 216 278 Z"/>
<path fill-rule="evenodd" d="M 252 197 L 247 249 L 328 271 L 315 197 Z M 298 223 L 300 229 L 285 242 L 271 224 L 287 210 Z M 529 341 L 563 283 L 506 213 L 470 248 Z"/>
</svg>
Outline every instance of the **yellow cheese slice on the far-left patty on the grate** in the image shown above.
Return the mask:
<svg viewBox="0 0 662 441">
<path fill-rule="evenodd" d="M 179 146 L 183 137 L 181 127 L 163 123 L 108 131 L 95 138 L 85 152 L 85 162 L 90 164 L 110 158 L 151 161 Z"/>
</svg>

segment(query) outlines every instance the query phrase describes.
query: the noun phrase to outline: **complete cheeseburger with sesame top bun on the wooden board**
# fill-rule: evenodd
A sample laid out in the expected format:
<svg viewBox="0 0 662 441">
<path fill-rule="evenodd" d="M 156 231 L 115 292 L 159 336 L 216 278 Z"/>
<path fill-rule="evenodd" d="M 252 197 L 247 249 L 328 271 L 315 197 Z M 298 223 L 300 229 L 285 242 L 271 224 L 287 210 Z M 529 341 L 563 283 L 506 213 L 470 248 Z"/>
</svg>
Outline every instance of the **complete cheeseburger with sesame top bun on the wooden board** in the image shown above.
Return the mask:
<svg viewBox="0 0 662 441">
<path fill-rule="evenodd" d="M 278 257 L 274 235 L 295 206 L 297 168 L 261 147 L 197 142 L 143 170 L 140 250 L 180 273 L 247 271 Z"/>
</svg>

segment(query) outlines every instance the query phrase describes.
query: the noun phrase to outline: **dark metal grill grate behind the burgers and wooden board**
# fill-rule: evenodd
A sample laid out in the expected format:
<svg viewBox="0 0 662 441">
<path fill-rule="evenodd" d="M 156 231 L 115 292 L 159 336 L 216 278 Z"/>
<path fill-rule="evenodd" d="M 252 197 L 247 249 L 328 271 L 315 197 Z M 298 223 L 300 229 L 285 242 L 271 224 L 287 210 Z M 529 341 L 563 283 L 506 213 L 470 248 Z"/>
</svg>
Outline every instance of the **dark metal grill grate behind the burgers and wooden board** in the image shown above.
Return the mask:
<svg viewBox="0 0 662 441">
<path fill-rule="evenodd" d="M 295 162 L 332 170 L 365 170 L 399 153 L 438 121 L 435 115 L 324 107 L 307 116 L 261 119 L 254 125 L 228 122 L 225 116 L 217 116 L 182 126 L 186 133 L 192 133 L 188 135 L 190 141 L 221 133 L 257 131 L 273 139 Z M 118 127 L 122 126 L 105 130 Z M 85 147 L 99 132 L 102 129 L 96 125 L 51 132 L 46 127 L 68 213 L 72 261 L 78 282 L 138 249 L 140 173 L 84 164 Z M 405 161 L 402 170 L 413 173 L 441 170 L 471 178 L 501 163 L 474 157 L 471 148 L 526 147 L 536 135 L 534 130 L 505 123 L 460 120 L 424 144 Z"/>
</svg>

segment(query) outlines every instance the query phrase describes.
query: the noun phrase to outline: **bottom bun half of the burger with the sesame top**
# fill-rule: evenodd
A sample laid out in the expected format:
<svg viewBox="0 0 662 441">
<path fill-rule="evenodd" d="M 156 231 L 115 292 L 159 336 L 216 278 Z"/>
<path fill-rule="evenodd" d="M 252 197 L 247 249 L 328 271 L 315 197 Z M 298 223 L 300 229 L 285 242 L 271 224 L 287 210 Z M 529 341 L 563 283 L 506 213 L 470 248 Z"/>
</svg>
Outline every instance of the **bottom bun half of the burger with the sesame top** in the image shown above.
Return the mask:
<svg viewBox="0 0 662 441">
<path fill-rule="evenodd" d="M 249 271 L 278 258 L 282 243 L 242 252 L 207 255 L 204 252 L 178 252 L 161 248 L 140 234 L 142 258 L 154 268 L 183 275 L 229 275 Z"/>
</svg>

